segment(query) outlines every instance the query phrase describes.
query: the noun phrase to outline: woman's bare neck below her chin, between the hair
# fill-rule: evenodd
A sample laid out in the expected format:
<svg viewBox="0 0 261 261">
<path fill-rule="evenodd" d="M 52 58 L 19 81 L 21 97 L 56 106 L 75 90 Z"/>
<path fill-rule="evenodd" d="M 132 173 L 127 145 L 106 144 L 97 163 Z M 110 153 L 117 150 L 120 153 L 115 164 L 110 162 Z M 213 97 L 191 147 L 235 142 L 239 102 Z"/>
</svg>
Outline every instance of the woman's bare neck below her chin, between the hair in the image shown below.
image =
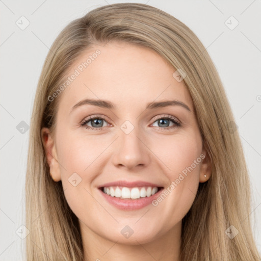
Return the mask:
<svg viewBox="0 0 261 261">
<path fill-rule="evenodd" d="M 163 236 L 145 244 L 121 244 L 100 237 L 87 226 L 81 226 L 84 261 L 180 261 L 181 221 Z"/>
</svg>

